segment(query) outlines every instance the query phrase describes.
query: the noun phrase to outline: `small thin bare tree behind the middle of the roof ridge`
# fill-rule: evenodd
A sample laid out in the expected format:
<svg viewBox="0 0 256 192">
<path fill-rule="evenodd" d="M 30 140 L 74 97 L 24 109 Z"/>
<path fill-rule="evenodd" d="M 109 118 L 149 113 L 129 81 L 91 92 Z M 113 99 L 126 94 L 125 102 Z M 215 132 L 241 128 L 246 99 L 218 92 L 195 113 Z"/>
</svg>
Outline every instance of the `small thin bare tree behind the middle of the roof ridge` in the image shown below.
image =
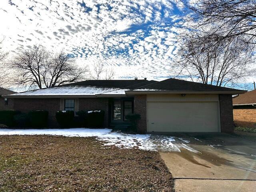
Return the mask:
<svg viewBox="0 0 256 192">
<path fill-rule="evenodd" d="M 114 69 L 106 68 L 102 62 L 95 62 L 90 70 L 90 78 L 94 80 L 111 80 L 114 77 Z"/>
</svg>

